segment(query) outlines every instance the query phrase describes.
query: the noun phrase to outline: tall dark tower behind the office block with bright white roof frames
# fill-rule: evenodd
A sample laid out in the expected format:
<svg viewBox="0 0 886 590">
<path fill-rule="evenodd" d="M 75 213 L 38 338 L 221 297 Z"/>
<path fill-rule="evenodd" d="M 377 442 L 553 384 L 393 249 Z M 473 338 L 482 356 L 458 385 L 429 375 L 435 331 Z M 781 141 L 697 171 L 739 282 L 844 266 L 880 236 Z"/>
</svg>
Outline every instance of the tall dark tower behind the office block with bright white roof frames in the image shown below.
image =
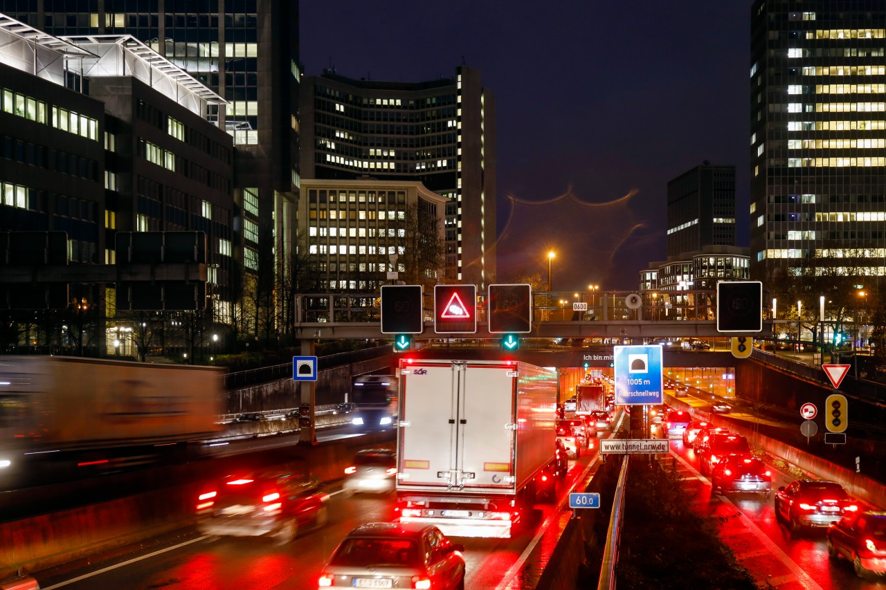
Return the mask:
<svg viewBox="0 0 886 590">
<path fill-rule="evenodd" d="M 220 95 L 207 115 L 237 146 L 235 258 L 283 272 L 299 186 L 298 0 L 0 0 L 0 12 L 51 35 L 133 35 Z"/>
</svg>

